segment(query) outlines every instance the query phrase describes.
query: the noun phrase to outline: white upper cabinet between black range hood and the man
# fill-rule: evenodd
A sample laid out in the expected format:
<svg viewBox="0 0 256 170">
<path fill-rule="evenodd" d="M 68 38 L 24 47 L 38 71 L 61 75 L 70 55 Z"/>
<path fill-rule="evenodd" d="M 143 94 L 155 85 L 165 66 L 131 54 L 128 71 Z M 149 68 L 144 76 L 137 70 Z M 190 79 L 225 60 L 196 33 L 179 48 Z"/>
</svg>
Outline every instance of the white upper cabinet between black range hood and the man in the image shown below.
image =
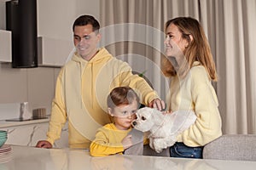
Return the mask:
<svg viewBox="0 0 256 170">
<path fill-rule="evenodd" d="M 38 65 L 62 66 L 71 59 L 74 53 L 73 42 L 38 37 Z"/>
</svg>

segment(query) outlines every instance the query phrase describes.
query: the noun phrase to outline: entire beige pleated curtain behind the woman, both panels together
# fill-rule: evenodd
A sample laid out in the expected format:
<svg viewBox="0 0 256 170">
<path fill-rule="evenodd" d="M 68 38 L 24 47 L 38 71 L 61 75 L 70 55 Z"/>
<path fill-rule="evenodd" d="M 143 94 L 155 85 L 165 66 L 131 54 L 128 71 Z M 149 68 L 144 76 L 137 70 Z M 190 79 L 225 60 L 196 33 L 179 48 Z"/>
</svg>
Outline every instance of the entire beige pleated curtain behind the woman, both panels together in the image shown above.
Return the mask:
<svg viewBox="0 0 256 170">
<path fill-rule="evenodd" d="M 146 71 L 162 99 L 169 88 L 160 72 L 164 24 L 177 16 L 200 20 L 217 65 L 223 132 L 256 133 L 256 0 L 102 0 L 100 11 L 101 45 Z"/>
</svg>

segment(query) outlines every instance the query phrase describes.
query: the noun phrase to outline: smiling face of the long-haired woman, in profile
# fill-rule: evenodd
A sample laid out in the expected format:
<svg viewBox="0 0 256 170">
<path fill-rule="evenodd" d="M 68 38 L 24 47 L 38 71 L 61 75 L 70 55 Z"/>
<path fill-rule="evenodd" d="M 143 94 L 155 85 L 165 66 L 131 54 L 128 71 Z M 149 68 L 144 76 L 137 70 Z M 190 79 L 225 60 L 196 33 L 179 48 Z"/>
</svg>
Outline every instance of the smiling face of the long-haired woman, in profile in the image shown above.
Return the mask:
<svg viewBox="0 0 256 170">
<path fill-rule="evenodd" d="M 188 41 L 182 37 L 181 31 L 178 30 L 177 26 L 170 24 L 166 29 L 166 56 L 174 57 L 179 60 L 183 57 L 183 51 L 188 46 Z"/>
</svg>

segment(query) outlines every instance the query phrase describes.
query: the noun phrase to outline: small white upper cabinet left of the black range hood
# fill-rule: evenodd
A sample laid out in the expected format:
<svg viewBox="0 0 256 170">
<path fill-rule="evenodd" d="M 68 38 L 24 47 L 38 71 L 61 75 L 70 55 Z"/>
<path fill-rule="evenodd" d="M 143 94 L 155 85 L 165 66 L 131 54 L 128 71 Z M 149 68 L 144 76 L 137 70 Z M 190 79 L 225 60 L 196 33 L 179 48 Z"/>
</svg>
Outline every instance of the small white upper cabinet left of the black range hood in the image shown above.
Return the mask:
<svg viewBox="0 0 256 170">
<path fill-rule="evenodd" d="M 0 62 L 12 61 L 11 31 L 0 30 Z"/>
</svg>

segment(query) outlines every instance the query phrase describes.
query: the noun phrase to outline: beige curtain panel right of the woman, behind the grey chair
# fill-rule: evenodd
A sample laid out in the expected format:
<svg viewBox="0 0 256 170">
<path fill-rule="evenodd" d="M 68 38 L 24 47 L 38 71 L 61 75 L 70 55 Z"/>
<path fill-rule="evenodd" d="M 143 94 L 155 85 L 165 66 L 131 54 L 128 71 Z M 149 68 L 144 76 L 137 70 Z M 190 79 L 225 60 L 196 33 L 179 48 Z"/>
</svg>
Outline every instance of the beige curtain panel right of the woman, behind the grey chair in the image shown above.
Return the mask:
<svg viewBox="0 0 256 170">
<path fill-rule="evenodd" d="M 216 58 L 224 133 L 256 133 L 255 9 L 255 0 L 201 0 Z"/>
</svg>

